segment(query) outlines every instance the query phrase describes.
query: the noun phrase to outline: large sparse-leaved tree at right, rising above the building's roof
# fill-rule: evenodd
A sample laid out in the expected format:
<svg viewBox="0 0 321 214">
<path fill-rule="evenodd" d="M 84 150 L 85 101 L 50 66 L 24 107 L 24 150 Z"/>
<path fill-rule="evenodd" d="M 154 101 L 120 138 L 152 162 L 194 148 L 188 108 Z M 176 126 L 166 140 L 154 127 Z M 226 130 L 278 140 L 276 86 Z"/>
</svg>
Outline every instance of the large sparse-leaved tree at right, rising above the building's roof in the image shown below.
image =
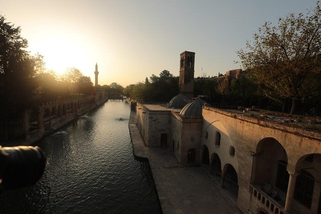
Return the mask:
<svg viewBox="0 0 321 214">
<path fill-rule="evenodd" d="M 321 69 L 321 10 L 316 3 L 307 15 L 289 14 L 278 26 L 266 22 L 238 55 L 265 96 L 279 103 L 291 99 L 290 114 L 307 93 L 309 77 Z"/>
</svg>

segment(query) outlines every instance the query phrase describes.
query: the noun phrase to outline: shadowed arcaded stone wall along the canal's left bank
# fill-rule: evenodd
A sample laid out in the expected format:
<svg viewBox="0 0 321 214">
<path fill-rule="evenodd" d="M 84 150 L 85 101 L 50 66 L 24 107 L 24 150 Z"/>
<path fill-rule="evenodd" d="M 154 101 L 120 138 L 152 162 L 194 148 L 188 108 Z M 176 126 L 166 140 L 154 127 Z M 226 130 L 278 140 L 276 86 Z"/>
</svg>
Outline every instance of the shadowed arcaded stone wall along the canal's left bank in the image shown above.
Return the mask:
<svg viewBox="0 0 321 214">
<path fill-rule="evenodd" d="M 31 145 L 45 135 L 57 130 L 65 124 L 88 111 L 102 105 L 108 99 L 100 93 L 76 99 L 56 100 L 42 104 L 38 113 L 32 115 L 31 110 L 25 110 L 21 120 L 9 124 L 8 131 L 14 140 L 2 141 L 2 146 Z M 31 122 L 33 118 L 35 121 Z M 6 129 L 4 129 L 6 130 Z M 8 134 L 8 133 L 2 133 Z"/>
</svg>

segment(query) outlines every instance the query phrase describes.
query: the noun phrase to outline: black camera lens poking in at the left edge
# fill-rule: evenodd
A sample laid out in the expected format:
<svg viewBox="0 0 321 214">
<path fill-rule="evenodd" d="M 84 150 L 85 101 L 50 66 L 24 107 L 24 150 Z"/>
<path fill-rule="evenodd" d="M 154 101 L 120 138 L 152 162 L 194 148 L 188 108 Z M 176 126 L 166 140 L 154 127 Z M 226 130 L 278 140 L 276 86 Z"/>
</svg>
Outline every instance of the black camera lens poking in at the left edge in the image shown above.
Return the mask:
<svg viewBox="0 0 321 214">
<path fill-rule="evenodd" d="M 15 146 L 0 149 L 1 186 L 5 189 L 30 186 L 45 171 L 46 157 L 39 147 Z"/>
</svg>

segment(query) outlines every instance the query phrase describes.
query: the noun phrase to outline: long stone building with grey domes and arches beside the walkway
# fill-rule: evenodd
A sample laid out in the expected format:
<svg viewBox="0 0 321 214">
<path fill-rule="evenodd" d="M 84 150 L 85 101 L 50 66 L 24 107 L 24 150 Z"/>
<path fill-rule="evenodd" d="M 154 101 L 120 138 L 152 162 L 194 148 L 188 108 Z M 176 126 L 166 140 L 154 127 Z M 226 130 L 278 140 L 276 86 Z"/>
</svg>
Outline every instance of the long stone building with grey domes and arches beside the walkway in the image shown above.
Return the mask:
<svg viewBox="0 0 321 214">
<path fill-rule="evenodd" d="M 146 146 L 170 147 L 181 166 L 208 167 L 243 213 L 321 213 L 321 134 L 200 98 L 185 103 L 182 94 L 167 106 L 137 103 Z"/>
</svg>

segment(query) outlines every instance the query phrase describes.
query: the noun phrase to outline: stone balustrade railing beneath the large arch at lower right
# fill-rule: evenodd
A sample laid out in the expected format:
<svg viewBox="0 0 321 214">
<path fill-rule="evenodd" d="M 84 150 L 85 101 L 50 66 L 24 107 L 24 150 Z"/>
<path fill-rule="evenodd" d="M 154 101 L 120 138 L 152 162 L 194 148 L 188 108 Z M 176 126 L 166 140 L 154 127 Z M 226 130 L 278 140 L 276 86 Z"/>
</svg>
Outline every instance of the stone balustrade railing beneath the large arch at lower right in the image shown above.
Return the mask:
<svg viewBox="0 0 321 214">
<path fill-rule="evenodd" d="M 261 201 L 263 205 L 265 205 L 266 209 L 268 209 L 271 213 L 275 214 L 288 214 L 287 211 L 284 210 L 284 208 L 278 204 L 276 201 L 274 201 L 268 194 L 266 194 L 263 190 L 256 187 L 256 185 L 251 185 L 252 188 L 252 194 L 253 196 Z"/>
</svg>

